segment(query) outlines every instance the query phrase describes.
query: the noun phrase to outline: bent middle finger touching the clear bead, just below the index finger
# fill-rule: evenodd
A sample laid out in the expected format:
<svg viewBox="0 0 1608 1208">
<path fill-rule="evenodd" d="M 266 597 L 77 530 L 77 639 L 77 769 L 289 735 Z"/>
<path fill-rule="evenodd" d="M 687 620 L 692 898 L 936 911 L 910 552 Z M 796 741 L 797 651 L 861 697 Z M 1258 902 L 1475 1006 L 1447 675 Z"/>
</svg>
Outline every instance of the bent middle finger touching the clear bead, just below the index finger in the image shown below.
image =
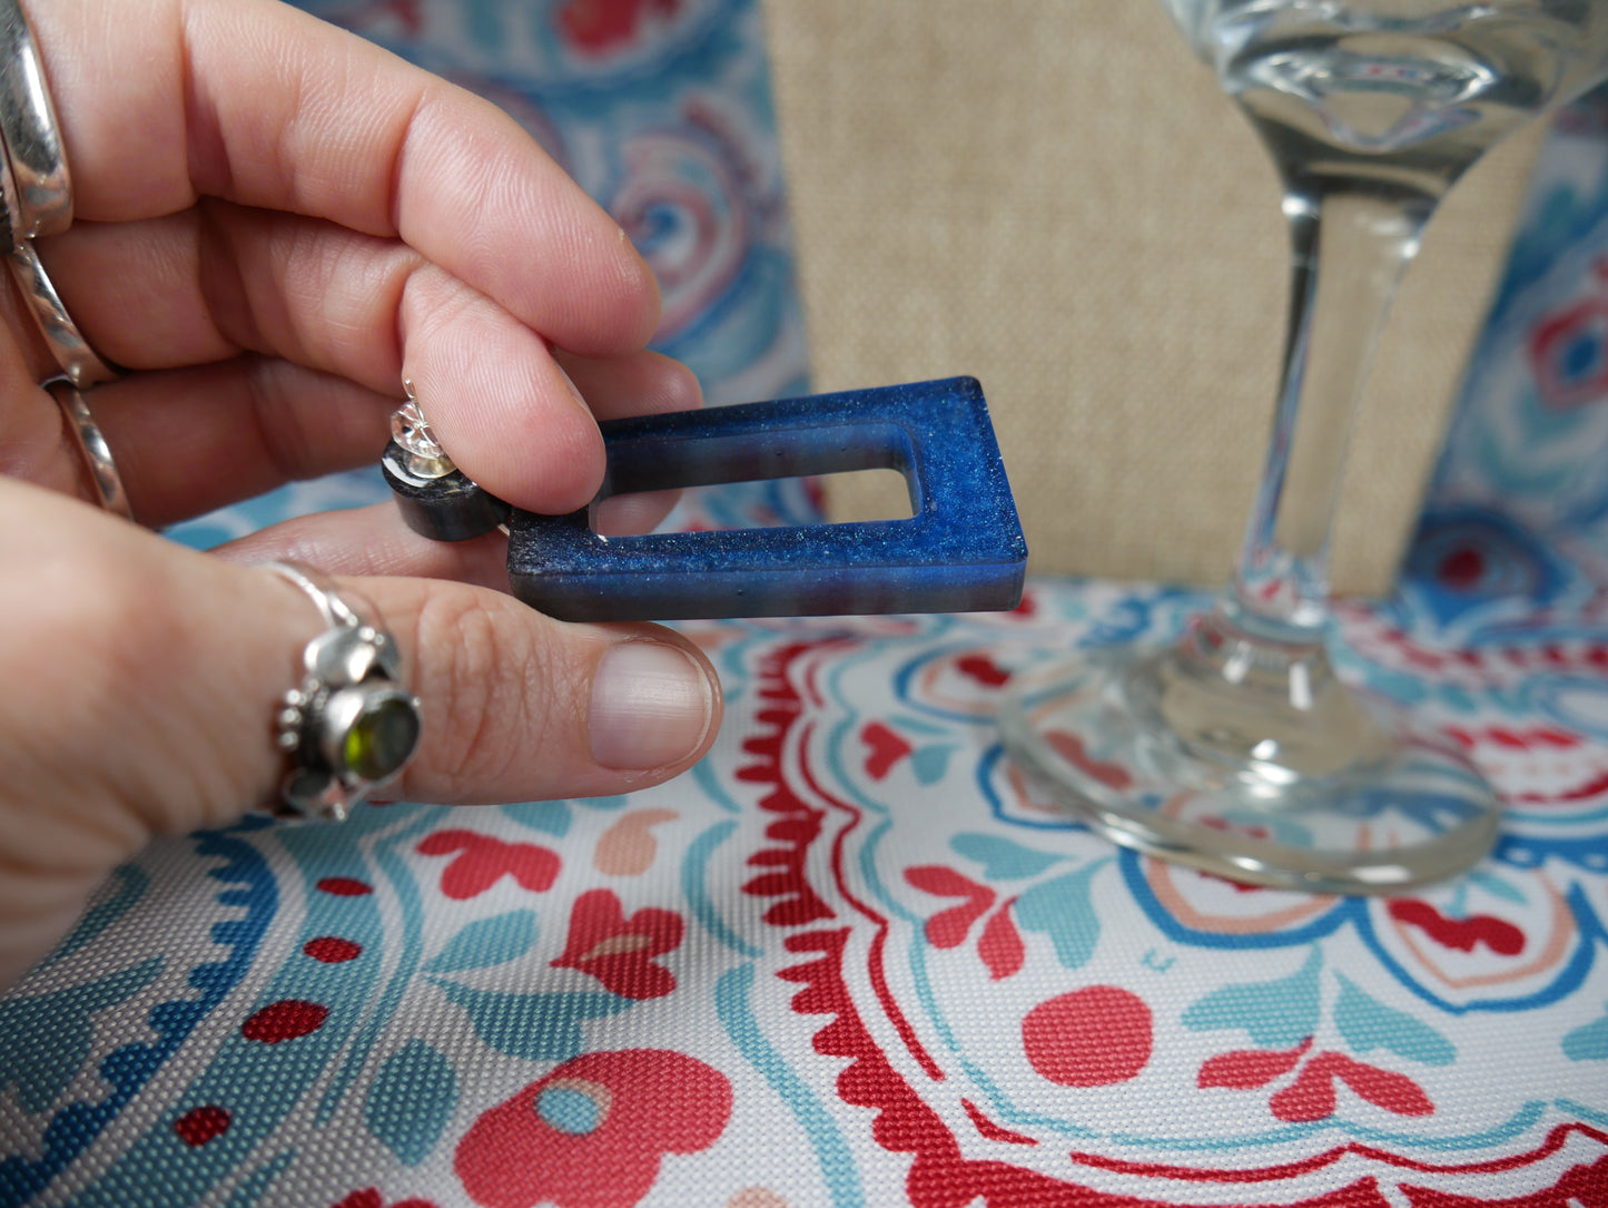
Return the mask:
<svg viewBox="0 0 1608 1208">
<path fill-rule="evenodd" d="M 121 365 L 174 368 L 244 349 L 386 397 L 397 396 L 405 365 L 453 460 L 494 494 L 564 512 L 598 486 L 593 418 L 547 341 L 405 244 L 203 203 L 145 222 L 79 224 L 43 246 L 79 327 Z M 37 339 L 32 359 L 43 376 L 48 351 Z M 696 402 L 675 362 L 621 362 L 603 370 L 609 362 L 564 357 L 600 413 Z M 621 397 L 622 388 L 635 397 Z M 370 455 L 365 446 L 355 460 Z"/>
</svg>

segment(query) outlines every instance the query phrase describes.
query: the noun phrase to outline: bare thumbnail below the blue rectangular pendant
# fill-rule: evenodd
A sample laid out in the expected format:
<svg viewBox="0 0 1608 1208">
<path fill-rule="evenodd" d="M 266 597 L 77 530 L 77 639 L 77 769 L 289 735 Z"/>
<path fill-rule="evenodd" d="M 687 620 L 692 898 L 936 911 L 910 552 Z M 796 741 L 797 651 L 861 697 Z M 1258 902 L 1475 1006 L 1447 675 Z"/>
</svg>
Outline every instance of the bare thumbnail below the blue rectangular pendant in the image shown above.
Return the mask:
<svg viewBox="0 0 1608 1208">
<path fill-rule="evenodd" d="M 592 758 L 648 769 L 685 759 L 704 740 L 714 688 L 701 666 L 664 642 L 621 642 L 592 680 Z"/>
</svg>

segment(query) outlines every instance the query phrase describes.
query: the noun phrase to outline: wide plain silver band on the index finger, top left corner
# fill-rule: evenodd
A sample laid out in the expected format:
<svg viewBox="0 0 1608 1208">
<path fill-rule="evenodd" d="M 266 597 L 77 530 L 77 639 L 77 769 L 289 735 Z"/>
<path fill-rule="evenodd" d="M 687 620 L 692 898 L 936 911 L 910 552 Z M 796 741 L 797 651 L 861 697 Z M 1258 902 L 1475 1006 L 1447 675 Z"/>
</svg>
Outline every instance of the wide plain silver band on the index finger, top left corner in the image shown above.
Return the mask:
<svg viewBox="0 0 1608 1208">
<path fill-rule="evenodd" d="M 18 0 L 0 0 L 0 138 L 16 179 L 21 220 L 11 241 L 58 235 L 72 225 L 72 180 L 45 64 Z"/>
</svg>

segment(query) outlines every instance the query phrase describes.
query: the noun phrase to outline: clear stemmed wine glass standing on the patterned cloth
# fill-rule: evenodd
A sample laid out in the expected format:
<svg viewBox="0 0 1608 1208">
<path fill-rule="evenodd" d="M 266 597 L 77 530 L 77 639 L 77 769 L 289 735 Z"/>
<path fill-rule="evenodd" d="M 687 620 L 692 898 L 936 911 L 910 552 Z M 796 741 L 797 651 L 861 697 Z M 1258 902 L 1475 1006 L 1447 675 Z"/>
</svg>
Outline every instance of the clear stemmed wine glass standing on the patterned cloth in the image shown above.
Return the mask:
<svg viewBox="0 0 1608 1208">
<path fill-rule="evenodd" d="M 1608 0 L 1163 0 L 1267 146 L 1291 238 L 1272 441 L 1227 590 L 1167 648 L 1018 676 L 1016 766 L 1111 840 L 1240 881 L 1389 893 L 1484 856 L 1500 801 L 1325 650 L 1348 429 L 1441 196 L 1608 74 Z"/>
</svg>

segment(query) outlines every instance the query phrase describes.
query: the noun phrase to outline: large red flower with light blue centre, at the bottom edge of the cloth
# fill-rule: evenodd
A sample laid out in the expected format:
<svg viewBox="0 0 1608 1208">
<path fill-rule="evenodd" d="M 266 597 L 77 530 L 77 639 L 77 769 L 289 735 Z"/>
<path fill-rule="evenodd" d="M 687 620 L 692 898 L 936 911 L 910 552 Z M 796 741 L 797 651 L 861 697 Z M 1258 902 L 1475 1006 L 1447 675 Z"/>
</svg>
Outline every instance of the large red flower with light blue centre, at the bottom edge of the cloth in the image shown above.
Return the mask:
<svg viewBox="0 0 1608 1208">
<path fill-rule="evenodd" d="M 730 1116 L 725 1074 L 685 1054 L 585 1054 L 482 1113 L 453 1168 L 486 1208 L 630 1208 L 666 1155 L 709 1148 Z"/>
</svg>

